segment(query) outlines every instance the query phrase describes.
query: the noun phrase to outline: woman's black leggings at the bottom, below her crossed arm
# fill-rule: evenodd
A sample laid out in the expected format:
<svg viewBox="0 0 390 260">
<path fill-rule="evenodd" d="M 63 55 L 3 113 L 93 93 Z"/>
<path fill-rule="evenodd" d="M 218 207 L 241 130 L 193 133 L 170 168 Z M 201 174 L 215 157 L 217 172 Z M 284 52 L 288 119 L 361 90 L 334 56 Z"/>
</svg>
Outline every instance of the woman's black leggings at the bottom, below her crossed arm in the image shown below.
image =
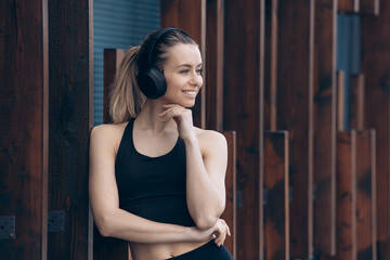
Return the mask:
<svg viewBox="0 0 390 260">
<path fill-rule="evenodd" d="M 214 239 L 207 244 L 195 248 L 192 251 L 185 252 L 178 257 L 169 258 L 167 260 L 234 260 L 232 255 L 224 246 L 218 247 Z"/>
</svg>

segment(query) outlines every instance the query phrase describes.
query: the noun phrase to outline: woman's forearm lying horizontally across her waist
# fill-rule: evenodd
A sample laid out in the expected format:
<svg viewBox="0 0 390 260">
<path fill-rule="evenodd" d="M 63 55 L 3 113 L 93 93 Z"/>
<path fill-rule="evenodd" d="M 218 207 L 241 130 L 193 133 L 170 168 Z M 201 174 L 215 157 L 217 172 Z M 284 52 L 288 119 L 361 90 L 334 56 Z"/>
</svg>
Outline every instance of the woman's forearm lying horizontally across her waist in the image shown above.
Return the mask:
<svg viewBox="0 0 390 260">
<path fill-rule="evenodd" d="M 129 213 L 122 209 L 96 219 L 103 236 L 112 236 L 135 243 L 197 242 L 207 238 L 212 232 L 197 232 L 195 227 L 165 224 Z"/>
</svg>

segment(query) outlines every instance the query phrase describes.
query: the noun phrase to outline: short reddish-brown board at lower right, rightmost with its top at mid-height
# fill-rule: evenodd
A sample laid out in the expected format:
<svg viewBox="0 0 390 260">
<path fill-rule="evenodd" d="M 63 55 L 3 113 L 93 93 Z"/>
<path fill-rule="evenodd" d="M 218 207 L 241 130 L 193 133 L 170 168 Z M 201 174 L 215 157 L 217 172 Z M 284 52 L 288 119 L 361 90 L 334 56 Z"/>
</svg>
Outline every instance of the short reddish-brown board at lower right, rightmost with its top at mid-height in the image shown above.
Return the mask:
<svg viewBox="0 0 390 260">
<path fill-rule="evenodd" d="M 356 250 L 358 259 L 377 259 L 375 218 L 375 130 L 356 132 Z M 373 199 L 374 198 L 374 199 Z"/>
</svg>

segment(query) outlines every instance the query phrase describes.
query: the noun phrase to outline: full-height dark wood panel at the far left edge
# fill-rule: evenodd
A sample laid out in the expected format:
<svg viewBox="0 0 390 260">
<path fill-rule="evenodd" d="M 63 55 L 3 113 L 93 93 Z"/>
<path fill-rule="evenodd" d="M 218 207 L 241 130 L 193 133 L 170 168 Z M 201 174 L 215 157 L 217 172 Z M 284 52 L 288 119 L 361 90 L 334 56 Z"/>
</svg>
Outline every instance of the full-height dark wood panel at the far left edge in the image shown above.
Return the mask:
<svg viewBox="0 0 390 260">
<path fill-rule="evenodd" d="M 0 216 L 15 217 L 0 256 L 46 259 L 48 3 L 5 0 L 0 8 Z"/>
</svg>

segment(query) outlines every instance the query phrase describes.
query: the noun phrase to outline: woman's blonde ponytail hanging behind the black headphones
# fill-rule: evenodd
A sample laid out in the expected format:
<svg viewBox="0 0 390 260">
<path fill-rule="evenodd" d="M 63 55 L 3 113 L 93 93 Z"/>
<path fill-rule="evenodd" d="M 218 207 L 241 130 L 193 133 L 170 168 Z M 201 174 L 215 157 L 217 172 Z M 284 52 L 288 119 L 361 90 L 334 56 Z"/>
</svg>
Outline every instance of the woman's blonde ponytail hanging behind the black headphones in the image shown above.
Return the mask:
<svg viewBox="0 0 390 260">
<path fill-rule="evenodd" d="M 114 123 L 125 122 L 136 117 L 145 103 L 146 98 L 136 82 L 139 51 L 140 47 L 128 50 L 116 72 L 109 101 L 109 115 Z"/>
</svg>

